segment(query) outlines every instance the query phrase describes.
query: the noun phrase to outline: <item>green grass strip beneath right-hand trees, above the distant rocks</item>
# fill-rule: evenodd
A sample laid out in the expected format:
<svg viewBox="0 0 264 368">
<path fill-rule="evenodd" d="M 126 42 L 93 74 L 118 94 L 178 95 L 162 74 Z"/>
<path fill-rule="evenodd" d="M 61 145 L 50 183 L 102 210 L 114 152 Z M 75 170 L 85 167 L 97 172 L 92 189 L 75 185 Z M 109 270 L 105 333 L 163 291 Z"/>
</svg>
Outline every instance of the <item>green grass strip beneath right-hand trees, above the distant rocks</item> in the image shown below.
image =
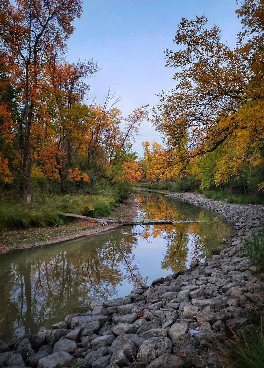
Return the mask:
<svg viewBox="0 0 264 368">
<path fill-rule="evenodd" d="M 236 204 L 260 204 L 264 205 L 263 194 L 228 194 L 226 192 L 219 192 L 214 190 L 206 190 L 202 192 L 207 198 L 213 199 L 213 201 L 225 201 L 227 203 Z"/>
</svg>

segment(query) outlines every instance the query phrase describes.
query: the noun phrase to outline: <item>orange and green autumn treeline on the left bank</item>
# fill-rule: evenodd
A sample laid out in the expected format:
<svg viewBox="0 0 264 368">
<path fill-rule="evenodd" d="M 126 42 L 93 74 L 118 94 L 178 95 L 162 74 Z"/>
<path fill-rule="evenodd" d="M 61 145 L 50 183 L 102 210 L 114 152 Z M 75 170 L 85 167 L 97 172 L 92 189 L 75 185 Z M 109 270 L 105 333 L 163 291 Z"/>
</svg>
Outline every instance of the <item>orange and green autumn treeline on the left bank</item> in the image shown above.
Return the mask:
<svg viewBox="0 0 264 368">
<path fill-rule="evenodd" d="M 122 197 L 142 176 L 131 141 L 145 112 L 123 118 L 110 91 L 104 106 L 87 103 L 86 79 L 98 65 L 65 59 L 80 4 L 0 3 L 0 184 L 26 195 L 28 204 L 36 188 L 64 194 L 117 188 Z"/>
</svg>

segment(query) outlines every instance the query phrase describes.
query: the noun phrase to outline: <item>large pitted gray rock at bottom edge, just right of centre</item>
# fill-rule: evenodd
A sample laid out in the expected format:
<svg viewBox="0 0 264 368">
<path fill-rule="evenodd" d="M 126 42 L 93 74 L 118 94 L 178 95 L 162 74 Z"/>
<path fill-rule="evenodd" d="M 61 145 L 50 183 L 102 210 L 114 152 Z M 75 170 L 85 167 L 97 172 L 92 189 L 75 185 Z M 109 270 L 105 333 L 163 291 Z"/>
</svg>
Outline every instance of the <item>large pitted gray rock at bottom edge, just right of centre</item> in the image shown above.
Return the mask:
<svg viewBox="0 0 264 368">
<path fill-rule="evenodd" d="M 167 337 L 152 337 L 145 340 L 137 353 L 137 361 L 147 365 L 163 353 L 171 353 L 172 343 Z"/>
</svg>

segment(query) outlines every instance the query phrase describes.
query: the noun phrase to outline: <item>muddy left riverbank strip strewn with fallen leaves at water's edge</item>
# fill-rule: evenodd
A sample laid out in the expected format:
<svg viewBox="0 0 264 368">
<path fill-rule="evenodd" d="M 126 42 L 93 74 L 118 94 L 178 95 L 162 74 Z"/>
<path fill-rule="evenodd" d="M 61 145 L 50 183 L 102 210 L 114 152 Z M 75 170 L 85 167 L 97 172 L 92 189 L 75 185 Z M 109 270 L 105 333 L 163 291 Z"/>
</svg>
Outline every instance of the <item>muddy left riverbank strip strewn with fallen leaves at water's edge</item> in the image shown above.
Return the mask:
<svg viewBox="0 0 264 368">
<path fill-rule="evenodd" d="M 133 198 L 130 198 L 119 204 L 107 218 L 126 220 L 133 219 L 135 216 L 137 216 L 137 204 Z M 109 223 L 95 225 L 94 222 L 86 220 L 72 220 L 61 226 L 4 231 L 0 233 L 0 254 L 92 236 L 117 226 L 120 225 Z"/>
</svg>

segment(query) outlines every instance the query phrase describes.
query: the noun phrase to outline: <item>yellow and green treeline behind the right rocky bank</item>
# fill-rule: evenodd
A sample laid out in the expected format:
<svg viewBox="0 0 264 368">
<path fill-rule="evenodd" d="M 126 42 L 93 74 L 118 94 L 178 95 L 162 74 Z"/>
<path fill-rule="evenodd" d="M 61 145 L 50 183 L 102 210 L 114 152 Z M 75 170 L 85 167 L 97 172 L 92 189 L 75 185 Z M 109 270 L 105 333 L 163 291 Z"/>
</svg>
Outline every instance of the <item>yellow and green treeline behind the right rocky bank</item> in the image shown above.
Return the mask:
<svg viewBox="0 0 264 368">
<path fill-rule="evenodd" d="M 177 181 L 196 189 L 264 189 L 264 4 L 244 0 L 234 49 L 207 18 L 182 19 L 166 50 L 176 86 L 159 95 L 152 123 L 163 147 L 144 142 L 141 166 L 151 184 Z M 183 179 L 182 179 L 183 178 Z"/>
</svg>

